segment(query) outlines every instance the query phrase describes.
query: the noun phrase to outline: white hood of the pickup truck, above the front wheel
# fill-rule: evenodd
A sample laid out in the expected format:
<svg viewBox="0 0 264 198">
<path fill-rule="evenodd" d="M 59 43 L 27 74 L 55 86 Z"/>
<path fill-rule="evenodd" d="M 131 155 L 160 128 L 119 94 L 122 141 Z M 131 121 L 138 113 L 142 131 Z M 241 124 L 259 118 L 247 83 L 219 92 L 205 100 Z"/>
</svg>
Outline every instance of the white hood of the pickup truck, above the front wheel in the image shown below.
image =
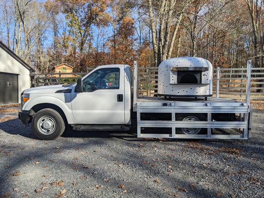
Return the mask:
<svg viewBox="0 0 264 198">
<path fill-rule="evenodd" d="M 25 90 L 24 94 L 55 94 L 55 93 L 70 93 L 73 85 L 49 85 L 42 87 L 34 87 Z"/>
</svg>

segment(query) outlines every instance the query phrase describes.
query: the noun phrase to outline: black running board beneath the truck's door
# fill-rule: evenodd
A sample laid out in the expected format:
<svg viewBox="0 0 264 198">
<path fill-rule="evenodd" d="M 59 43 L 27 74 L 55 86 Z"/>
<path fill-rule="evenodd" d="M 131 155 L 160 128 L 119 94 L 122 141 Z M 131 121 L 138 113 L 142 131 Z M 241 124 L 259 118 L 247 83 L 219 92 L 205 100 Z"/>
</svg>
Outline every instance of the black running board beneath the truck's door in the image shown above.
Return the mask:
<svg viewBox="0 0 264 198">
<path fill-rule="evenodd" d="M 75 131 L 129 131 L 130 127 L 125 125 L 75 125 Z"/>
</svg>

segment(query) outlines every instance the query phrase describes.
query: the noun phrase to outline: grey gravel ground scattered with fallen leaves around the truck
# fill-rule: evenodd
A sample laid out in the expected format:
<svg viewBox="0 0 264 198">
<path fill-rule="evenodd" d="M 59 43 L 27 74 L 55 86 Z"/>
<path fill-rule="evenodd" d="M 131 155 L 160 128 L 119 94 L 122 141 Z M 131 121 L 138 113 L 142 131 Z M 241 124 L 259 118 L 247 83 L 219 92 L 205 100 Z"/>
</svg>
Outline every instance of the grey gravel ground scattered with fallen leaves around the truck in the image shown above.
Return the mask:
<svg viewBox="0 0 264 198">
<path fill-rule="evenodd" d="M 263 198 L 264 111 L 249 140 L 138 139 L 77 132 L 43 141 L 0 114 L 3 198 Z"/>
</svg>

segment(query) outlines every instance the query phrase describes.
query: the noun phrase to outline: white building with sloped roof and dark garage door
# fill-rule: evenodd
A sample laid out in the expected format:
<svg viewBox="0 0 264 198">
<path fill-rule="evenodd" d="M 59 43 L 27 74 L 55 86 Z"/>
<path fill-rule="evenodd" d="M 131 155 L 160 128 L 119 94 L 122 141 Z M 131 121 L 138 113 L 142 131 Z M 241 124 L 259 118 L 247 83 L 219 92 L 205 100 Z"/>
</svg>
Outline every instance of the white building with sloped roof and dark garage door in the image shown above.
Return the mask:
<svg viewBox="0 0 264 198">
<path fill-rule="evenodd" d="M 0 104 L 21 102 L 20 94 L 30 88 L 30 71 L 34 69 L 0 42 Z"/>
</svg>

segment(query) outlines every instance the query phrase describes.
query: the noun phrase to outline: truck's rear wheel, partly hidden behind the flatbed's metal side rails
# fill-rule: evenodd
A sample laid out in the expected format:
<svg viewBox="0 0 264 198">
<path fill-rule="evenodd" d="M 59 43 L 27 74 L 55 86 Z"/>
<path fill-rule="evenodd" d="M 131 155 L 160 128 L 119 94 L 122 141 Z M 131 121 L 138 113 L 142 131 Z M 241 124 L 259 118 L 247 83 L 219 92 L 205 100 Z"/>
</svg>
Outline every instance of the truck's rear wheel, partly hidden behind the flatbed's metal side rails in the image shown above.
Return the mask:
<svg viewBox="0 0 264 198">
<path fill-rule="evenodd" d="M 206 121 L 207 118 L 201 113 L 178 113 L 175 117 L 176 121 Z M 176 128 L 178 134 L 196 135 L 196 134 L 206 134 L 206 128 Z"/>
</svg>

